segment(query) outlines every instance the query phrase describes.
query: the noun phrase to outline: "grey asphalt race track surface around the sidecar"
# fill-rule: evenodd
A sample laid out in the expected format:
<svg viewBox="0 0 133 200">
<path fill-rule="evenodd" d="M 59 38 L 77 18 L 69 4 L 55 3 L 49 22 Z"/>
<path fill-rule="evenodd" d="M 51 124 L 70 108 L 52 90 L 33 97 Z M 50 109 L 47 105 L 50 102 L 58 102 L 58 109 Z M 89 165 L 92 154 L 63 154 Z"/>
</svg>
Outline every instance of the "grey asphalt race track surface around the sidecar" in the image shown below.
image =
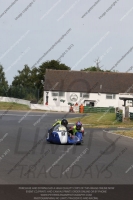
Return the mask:
<svg viewBox="0 0 133 200">
<path fill-rule="evenodd" d="M 55 119 L 83 115 L 44 114 L 0 111 L 0 184 L 133 184 L 133 139 L 87 128 L 82 145 L 49 144 Z"/>
</svg>

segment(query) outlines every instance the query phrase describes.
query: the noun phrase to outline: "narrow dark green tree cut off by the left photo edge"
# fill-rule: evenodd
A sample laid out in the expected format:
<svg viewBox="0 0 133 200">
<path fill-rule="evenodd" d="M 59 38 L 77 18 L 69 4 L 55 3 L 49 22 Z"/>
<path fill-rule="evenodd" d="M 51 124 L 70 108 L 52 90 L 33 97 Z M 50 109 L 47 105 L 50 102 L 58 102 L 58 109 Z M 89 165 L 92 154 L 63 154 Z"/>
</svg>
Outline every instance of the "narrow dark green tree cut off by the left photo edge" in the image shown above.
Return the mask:
<svg viewBox="0 0 133 200">
<path fill-rule="evenodd" d="M 5 72 L 3 71 L 3 66 L 0 65 L 0 96 L 7 96 L 8 92 L 8 82 L 5 78 Z"/>
</svg>

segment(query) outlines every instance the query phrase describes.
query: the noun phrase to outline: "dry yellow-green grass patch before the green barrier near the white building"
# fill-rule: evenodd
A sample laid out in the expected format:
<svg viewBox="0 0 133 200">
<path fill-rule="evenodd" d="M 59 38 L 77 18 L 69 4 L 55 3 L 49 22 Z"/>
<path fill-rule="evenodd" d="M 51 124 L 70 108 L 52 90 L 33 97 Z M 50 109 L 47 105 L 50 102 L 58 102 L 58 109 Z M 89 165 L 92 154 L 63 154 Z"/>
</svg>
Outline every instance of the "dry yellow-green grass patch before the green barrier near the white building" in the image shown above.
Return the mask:
<svg viewBox="0 0 133 200">
<path fill-rule="evenodd" d="M 84 117 L 68 119 L 69 123 L 75 123 L 80 120 L 83 124 L 89 124 L 88 127 L 133 127 L 133 121 L 117 122 L 115 113 L 87 113 Z"/>
</svg>

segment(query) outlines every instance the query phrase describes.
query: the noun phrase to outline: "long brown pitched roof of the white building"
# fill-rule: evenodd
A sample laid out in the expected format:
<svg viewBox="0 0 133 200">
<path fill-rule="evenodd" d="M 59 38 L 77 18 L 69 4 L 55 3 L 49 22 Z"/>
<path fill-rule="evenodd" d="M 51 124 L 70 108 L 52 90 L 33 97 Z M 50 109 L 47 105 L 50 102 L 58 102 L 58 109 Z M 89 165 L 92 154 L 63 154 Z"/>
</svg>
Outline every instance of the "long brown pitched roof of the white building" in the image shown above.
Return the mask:
<svg viewBox="0 0 133 200">
<path fill-rule="evenodd" d="M 45 91 L 133 93 L 133 73 L 46 70 Z"/>
</svg>

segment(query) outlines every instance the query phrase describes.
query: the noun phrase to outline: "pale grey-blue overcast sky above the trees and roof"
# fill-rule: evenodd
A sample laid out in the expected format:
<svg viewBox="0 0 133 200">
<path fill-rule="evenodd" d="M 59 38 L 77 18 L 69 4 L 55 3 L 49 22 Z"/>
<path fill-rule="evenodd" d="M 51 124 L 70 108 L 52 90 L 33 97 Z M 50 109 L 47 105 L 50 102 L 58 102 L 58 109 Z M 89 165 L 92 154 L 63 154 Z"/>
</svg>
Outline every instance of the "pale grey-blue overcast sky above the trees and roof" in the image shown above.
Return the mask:
<svg viewBox="0 0 133 200">
<path fill-rule="evenodd" d="M 9 85 L 53 59 L 132 73 L 132 22 L 132 0 L 0 0 L 0 64 Z"/>
</svg>

